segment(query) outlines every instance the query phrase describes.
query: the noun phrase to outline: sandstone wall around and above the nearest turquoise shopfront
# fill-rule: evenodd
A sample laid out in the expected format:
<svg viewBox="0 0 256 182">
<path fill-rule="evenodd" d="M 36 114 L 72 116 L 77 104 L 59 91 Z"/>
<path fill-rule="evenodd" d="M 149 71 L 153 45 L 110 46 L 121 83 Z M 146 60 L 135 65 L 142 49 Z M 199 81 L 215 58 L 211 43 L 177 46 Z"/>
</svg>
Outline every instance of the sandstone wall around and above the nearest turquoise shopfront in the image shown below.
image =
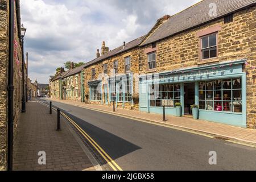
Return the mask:
<svg viewBox="0 0 256 182">
<path fill-rule="evenodd" d="M 256 65 L 256 10 L 239 11 L 233 16 L 233 22 L 224 23 L 224 18 L 208 23 L 193 30 L 171 36 L 156 44 L 156 69 L 153 72 L 172 71 L 174 69 L 188 68 L 198 65 L 221 63 L 227 60 L 247 59 L 249 65 Z M 200 39 L 197 32 L 215 25 L 222 28 L 218 31 L 218 57 L 217 59 L 200 60 Z M 147 55 L 145 50 L 151 45 L 142 47 L 139 52 L 139 73 L 148 73 Z M 256 86 L 255 69 L 247 66 L 247 126 L 255 128 L 256 118 Z"/>
</svg>

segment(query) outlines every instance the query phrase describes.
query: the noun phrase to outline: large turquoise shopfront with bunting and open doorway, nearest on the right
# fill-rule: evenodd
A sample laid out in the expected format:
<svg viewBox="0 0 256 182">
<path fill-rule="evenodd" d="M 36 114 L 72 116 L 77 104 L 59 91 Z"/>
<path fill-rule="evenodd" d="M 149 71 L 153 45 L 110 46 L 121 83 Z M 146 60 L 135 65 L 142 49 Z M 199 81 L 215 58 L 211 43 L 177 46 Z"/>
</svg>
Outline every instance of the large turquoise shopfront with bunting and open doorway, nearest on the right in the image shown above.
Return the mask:
<svg viewBox="0 0 256 182">
<path fill-rule="evenodd" d="M 182 114 L 192 114 L 199 106 L 199 119 L 246 127 L 246 60 L 163 72 L 140 77 L 139 107 L 148 113 L 176 115 L 180 102 Z"/>
</svg>

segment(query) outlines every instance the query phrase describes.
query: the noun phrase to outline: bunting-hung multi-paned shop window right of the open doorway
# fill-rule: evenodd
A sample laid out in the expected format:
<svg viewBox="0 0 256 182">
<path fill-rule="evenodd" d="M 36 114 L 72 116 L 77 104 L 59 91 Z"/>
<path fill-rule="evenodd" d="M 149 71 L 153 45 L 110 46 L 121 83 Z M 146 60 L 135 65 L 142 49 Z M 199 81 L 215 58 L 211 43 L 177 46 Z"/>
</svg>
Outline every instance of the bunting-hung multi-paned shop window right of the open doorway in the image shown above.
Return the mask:
<svg viewBox="0 0 256 182">
<path fill-rule="evenodd" d="M 199 109 L 241 113 L 241 78 L 199 82 Z"/>
</svg>

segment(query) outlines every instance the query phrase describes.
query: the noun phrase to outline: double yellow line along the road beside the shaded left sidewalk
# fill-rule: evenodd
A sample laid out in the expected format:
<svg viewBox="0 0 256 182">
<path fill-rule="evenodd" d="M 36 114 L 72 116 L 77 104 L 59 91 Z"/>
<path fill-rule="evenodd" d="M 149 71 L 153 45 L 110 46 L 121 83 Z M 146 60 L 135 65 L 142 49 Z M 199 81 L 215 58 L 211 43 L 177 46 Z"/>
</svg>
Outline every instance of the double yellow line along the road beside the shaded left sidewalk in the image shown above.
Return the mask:
<svg viewBox="0 0 256 182">
<path fill-rule="evenodd" d="M 40 104 L 43 104 L 43 105 L 49 107 L 47 104 L 44 104 L 41 101 L 39 101 L 39 102 L 40 102 Z M 52 109 L 56 111 L 55 108 L 52 107 Z M 82 136 L 84 136 L 84 138 L 86 140 L 88 140 L 88 142 L 90 144 L 92 144 L 92 146 L 97 150 L 97 152 L 102 156 L 102 158 L 104 158 L 106 160 L 106 162 L 109 164 L 110 167 L 112 167 L 112 169 L 114 171 L 123 171 L 122 168 L 119 167 L 118 164 L 115 163 L 114 160 L 112 158 L 110 158 L 110 156 L 97 144 L 97 142 L 95 142 L 84 130 L 81 129 L 81 127 L 79 125 L 77 125 L 77 123 L 75 121 L 73 121 L 73 119 L 68 117 L 68 115 L 64 114 L 62 111 L 60 113 L 61 113 L 61 115 L 63 115 L 64 118 L 66 118 L 69 122 L 71 122 L 71 124 L 73 126 L 76 127 L 76 129 L 82 134 Z"/>
</svg>

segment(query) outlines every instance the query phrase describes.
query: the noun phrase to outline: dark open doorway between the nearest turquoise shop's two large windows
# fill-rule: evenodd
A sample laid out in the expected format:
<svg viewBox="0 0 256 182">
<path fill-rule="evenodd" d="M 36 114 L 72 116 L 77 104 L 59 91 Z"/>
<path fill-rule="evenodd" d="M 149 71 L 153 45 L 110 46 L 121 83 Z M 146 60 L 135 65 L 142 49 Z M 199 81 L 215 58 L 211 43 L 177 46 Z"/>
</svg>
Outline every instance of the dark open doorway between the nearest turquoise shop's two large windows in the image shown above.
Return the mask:
<svg viewBox="0 0 256 182">
<path fill-rule="evenodd" d="M 184 115 L 192 115 L 191 105 L 195 104 L 195 83 L 184 84 Z"/>
</svg>

